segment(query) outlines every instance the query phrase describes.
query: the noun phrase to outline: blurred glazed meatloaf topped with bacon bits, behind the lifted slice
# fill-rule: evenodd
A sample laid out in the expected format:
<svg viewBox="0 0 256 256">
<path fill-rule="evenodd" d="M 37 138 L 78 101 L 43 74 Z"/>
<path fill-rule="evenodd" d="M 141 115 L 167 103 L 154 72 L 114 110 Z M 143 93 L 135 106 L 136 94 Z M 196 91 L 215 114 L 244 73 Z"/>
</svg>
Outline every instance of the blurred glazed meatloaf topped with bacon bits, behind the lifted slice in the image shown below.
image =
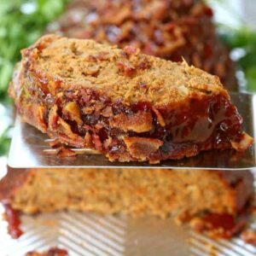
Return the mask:
<svg viewBox="0 0 256 256">
<path fill-rule="evenodd" d="M 237 90 L 236 65 L 219 40 L 203 0 L 73 0 L 48 27 L 68 38 L 136 46 L 143 53 L 182 61 L 217 75 Z"/>
</svg>

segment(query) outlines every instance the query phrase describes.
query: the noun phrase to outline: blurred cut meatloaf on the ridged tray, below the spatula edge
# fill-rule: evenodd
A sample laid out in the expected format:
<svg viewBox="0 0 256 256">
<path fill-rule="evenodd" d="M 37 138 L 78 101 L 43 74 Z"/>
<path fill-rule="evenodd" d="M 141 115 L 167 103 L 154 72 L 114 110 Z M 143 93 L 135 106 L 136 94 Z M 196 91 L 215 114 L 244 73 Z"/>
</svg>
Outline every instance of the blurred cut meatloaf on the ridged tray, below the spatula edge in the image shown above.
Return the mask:
<svg viewBox="0 0 256 256">
<path fill-rule="evenodd" d="M 9 168 L 0 181 L 0 201 L 26 213 L 73 209 L 180 220 L 207 212 L 236 217 L 252 197 L 248 171 Z"/>
</svg>

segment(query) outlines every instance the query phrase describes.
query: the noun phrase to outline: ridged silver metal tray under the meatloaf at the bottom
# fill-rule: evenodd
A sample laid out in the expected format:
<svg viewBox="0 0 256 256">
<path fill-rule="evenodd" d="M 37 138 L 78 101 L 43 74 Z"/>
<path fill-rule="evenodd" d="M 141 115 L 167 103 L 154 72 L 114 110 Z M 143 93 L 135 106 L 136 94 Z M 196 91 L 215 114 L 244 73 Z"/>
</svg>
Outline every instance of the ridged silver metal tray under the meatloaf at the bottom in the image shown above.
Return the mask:
<svg viewBox="0 0 256 256">
<path fill-rule="evenodd" d="M 0 207 L 0 213 L 3 208 Z M 255 256 L 256 247 L 240 238 L 213 241 L 172 219 L 99 216 L 93 213 L 58 212 L 23 216 L 23 236 L 9 237 L 0 218 L 0 255 L 21 256 L 49 247 L 67 249 L 70 256 Z M 256 228 L 256 219 L 251 224 Z"/>
</svg>

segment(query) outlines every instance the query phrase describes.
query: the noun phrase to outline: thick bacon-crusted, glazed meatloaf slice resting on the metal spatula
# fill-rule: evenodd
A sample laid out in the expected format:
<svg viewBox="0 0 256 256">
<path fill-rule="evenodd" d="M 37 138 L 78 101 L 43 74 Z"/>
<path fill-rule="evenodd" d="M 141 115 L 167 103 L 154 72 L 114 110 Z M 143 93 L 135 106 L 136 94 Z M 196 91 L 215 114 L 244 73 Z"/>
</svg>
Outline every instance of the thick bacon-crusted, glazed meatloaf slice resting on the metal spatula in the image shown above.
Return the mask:
<svg viewBox="0 0 256 256">
<path fill-rule="evenodd" d="M 45 36 L 22 51 L 9 94 L 27 123 L 109 160 L 155 163 L 253 141 L 217 77 L 131 46 Z"/>
</svg>

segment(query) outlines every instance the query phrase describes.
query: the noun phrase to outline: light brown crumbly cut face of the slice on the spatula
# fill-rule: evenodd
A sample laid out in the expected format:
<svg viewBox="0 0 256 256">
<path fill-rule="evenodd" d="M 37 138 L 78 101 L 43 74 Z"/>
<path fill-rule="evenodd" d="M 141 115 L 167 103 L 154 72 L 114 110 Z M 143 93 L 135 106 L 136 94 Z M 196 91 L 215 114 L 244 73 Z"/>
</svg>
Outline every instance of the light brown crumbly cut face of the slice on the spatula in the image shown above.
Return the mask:
<svg viewBox="0 0 256 256">
<path fill-rule="evenodd" d="M 150 102 L 162 106 L 183 102 L 195 94 L 229 97 L 219 79 L 185 62 L 174 63 L 92 40 L 48 35 L 22 51 L 28 72 L 48 83 L 53 94 L 93 89 L 112 102 Z M 55 88 L 55 87 L 58 88 Z M 54 87 L 54 88 L 53 88 Z"/>
</svg>

